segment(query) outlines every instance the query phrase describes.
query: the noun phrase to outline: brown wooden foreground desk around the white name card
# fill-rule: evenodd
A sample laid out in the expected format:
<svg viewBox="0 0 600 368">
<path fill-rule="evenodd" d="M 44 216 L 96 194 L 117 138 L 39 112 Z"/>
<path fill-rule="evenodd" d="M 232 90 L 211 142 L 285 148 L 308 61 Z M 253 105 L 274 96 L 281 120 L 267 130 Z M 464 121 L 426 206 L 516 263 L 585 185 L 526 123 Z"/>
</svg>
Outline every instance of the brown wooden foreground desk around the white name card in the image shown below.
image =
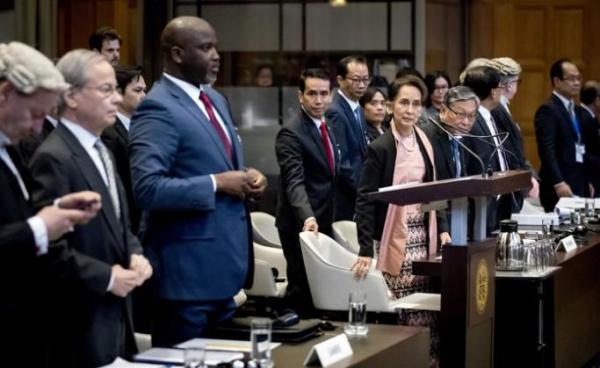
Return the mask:
<svg viewBox="0 0 600 368">
<path fill-rule="evenodd" d="M 303 367 L 313 345 L 343 333 L 343 329 L 299 344 L 284 344 L 273 350 L 275 367 Z M 351 338 L 354 354 L 332 365 L 345 367 L 429 367 L 429 329 L 422 327 L 369 325 L 366 337 Z"/>
</svg>

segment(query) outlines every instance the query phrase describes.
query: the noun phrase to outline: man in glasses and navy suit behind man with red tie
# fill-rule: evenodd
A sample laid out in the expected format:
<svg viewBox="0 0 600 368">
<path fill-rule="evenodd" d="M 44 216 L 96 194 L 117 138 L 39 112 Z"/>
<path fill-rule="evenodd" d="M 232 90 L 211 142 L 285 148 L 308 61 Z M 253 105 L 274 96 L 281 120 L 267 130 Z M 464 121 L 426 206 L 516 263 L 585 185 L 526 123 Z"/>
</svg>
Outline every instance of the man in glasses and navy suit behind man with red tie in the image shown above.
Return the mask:
<svg viewBox="0 0 600 368">
<path fill-rule="evenodd" d="M 366 122 L 359 100 L 371 83 L 367 60 L 347 56 L 337 66 L 339 89 L 325 113 L 340 151 L 334 219 L 352 220 L 362 162 L 367 151 Z"/>
</svg>

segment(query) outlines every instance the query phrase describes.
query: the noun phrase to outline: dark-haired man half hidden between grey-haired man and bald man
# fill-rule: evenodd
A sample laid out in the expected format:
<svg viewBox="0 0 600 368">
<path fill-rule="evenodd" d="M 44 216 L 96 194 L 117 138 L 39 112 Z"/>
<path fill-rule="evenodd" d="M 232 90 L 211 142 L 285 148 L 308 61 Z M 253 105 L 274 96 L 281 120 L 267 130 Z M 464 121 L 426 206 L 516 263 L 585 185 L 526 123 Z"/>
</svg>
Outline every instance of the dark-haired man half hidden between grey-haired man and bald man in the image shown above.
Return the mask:
<svg viewBox="0 0 600 368">
<path fill-rule="evenodd" d="M 129 171 L 129 149 L 127 146 L 129 145 L 131 116 L 146 96 L 146 82 L 140 67 L 117 65 L 115 66 L 115 73 L 117 76 L 117 91 L 121 95 L 122 101 L 117 111 L 117 120 L 102 132 L 102 141 L 115 157 L 117 172 L 123 181 L 127 196 L 131 231 L 137 234 L 141 211 L 133 199 L 131 173 Z"/>
</svg>

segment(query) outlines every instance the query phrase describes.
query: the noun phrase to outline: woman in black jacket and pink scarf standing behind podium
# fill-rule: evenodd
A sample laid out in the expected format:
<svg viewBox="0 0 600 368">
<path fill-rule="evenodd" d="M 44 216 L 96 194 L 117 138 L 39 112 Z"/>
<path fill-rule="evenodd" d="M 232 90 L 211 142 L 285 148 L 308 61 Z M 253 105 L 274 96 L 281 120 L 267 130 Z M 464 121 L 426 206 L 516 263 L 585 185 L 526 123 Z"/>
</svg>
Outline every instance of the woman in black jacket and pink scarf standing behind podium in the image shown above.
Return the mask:
<svg viewBox="0 0 600 368">
<path fill-rule="evenodd" d="M 392 84 L 390 129 L 369 146 L 357 194 L 360 252 L 352 270 L 357 278 L 366 276 L 377 252 L 377 269 L 396 298 L 432 291 L 429 278 L 412 274 L 412 262 L 437 253 L 438 244 L 450 241 L 443 214 L 424 212 L 420 204 L 388 205 L 368 198 L 380 187 L 435 180 L 431 143 L 416 126 L 425 96 L 427 87 L 418 77 L 406 76 Z M 431 328 L 430 355 L 435 362 L 439 337 L 434 313 L 403 311 L 400 323 Z"/>
</svg>

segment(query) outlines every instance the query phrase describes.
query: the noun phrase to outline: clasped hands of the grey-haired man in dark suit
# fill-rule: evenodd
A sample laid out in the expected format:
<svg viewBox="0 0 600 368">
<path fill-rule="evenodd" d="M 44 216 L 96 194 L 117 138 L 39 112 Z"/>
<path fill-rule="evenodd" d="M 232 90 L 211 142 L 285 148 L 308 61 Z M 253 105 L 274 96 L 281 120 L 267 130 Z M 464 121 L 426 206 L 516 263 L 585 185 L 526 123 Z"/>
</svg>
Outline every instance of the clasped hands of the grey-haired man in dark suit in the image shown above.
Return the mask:
<svg viewBox="0 0 600 368">
<path fill-rule="evenodd" d="M 124 298 L 151 276 L 152 266 L 148 259 L 141 254 L 132 254 L 129 268 L 125 269 L 120 264 L 112 266 L 113 285 L 109 291 Z"/>
</svg>

